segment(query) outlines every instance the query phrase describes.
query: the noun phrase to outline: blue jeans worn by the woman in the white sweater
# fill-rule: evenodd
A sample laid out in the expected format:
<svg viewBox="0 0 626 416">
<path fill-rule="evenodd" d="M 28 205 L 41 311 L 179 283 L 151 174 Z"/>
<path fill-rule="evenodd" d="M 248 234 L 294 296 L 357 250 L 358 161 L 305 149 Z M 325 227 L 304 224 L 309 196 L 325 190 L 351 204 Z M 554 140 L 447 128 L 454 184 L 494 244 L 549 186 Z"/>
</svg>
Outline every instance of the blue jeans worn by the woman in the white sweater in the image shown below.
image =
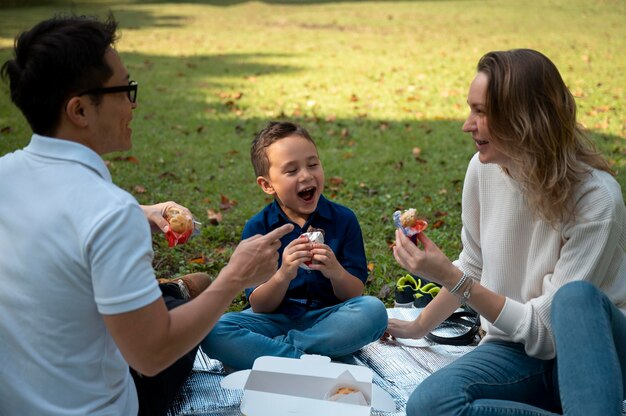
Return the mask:
<svg viewBox="0 0 626 416">
<path fill-rule="evenodd" d="M 435 372 L 407 415 L 619 416 L 626 396 L 626 317 L 593 285 L 571 282 L 552 301 L 556 359 L 489 342 Z"/>
</svg>

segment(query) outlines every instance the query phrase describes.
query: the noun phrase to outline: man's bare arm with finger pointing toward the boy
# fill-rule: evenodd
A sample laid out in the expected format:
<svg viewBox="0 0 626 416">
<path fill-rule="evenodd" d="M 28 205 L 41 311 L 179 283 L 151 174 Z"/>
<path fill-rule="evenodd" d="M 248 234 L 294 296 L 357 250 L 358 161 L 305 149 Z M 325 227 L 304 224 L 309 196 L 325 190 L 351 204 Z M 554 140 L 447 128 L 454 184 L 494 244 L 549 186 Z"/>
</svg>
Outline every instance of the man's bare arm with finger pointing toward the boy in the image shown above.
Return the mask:
<svg viewBox="0 0 626 416">
<path fill-rule="evenodd" d="M 103 315 L 129 365 L 142 374 L 155 375 L 199 344 L 237 293 L 275 272 L 280 237 L 292 229 L 288 224 L 243 240 L 216 280 L 184 305 L 168 311 L 160 298 L 132 312 Z"/>
</svg>

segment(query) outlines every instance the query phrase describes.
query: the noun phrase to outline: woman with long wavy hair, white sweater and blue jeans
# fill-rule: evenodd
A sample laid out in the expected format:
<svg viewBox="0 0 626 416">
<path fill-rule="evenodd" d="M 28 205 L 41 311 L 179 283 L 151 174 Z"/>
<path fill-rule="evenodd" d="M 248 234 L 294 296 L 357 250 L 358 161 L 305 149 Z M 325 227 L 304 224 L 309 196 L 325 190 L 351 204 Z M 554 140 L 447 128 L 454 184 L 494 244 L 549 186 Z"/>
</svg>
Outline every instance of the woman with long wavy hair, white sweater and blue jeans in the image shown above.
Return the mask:
<svg viewBox="0 0 626 416">
<path fill-rule="evenodd" d="M 411 395 L 408 415 L 619 415 L 626 386 L 626 208 L 537 51 L 483 56 L 463 131 L 477 153 L 463 189 L 463 250 L 423 233 L 394 256 L 444 289 L 392 336 L 420 338 L 461 303 L 486 336 Z"/>
</svg>

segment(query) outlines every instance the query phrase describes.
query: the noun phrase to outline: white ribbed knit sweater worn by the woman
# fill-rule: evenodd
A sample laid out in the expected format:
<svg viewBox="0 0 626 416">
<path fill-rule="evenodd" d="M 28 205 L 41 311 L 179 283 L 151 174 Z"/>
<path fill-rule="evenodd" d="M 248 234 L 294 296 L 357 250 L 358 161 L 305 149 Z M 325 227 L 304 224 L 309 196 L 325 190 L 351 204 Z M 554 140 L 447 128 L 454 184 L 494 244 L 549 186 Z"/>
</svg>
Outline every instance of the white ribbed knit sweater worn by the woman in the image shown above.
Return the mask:
<svg viewBox="0 0 626 416">
<path fill-rule="evenodd" d="M 576 193 L 577 215 L 558 230 L 533 219 L 518 184 L 474 155 L 463 187 L 463 251 L 455 264 L 506 296 L 483 342 L 520 342 L 530 356 L 555 355 L 554 292 L 573 280 L 598 286 L 626 314 L 626 207 L 620 186 L 594 170 Z"/>
</svg>

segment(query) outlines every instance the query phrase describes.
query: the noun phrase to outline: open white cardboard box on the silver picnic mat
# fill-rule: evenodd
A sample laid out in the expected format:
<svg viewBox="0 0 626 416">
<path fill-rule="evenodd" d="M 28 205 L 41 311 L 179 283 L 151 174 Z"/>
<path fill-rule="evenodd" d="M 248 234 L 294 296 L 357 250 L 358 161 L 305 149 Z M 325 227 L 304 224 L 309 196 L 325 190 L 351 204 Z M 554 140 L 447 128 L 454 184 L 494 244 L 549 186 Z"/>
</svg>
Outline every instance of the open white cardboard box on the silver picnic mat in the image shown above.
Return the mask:
<svg viewBox="0 0 626 416">
<path fill-rule="evenodd" d="M 372 408 L 396 410 L 386 391 L 372 383 L 367 367 L 333 363 L 322 355 L 303 355 L 300 359 L 259 357 L 252 370 L 229 374 L 222 387 L 243 389 L 241 412 L 246 416 L 365 416 Z M 358 388 L 367 404 L 348 404 L 327 399 L 336 387 Z"/>
</svg>

